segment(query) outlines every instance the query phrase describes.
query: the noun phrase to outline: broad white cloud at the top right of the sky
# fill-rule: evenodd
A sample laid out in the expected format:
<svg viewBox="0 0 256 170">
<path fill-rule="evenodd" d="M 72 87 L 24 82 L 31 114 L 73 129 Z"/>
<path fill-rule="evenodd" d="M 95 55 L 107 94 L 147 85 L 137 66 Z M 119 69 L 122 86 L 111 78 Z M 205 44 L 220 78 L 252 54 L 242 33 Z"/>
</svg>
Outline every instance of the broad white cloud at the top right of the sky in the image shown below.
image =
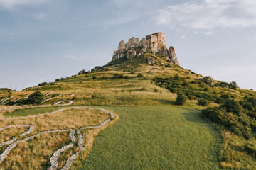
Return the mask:
<svg viewBox="0 0 256 170">
<path fill-rule="evenodd" d="M 256 1 L 252 0 L 201 0 L 156 11 L 156 23 L 170 28 L 207 30 L 215 28 L 245 28 L 256 26 Z"/>
</svg>

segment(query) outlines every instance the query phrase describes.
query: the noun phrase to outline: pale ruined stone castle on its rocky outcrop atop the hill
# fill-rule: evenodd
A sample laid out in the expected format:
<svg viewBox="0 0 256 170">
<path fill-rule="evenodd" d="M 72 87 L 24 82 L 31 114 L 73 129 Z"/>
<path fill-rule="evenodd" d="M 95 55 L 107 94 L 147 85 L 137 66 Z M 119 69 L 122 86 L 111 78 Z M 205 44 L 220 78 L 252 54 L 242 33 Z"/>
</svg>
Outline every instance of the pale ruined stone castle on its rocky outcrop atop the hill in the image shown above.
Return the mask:
<svg viewBox="0 0 256 170">
<path fill-rule="evenodd" d="M 126 44 L 122 40 L 118 45 L 118 50 L 114 51 L 112 61 L 122 57 L 132 59 L 143 55 L 145 52 L 159 52 L 162 55 L 167 55 L 169 62 L 179 65 L 174 47 L 167 48 L 165 33 L 146 35 L 146 38 L 142 38 L 140 42 L 139 38 L 134 37 L 130 38 Z"/>
</svg>

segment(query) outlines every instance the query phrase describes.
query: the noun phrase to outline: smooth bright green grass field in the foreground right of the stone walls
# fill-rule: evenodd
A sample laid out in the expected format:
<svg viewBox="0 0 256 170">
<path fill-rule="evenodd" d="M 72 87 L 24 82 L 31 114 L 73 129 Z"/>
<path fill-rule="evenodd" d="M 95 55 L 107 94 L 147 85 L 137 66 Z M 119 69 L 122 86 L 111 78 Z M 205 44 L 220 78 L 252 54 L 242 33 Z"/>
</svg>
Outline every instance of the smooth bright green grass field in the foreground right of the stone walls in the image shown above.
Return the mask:
<svg viewBox="0 0 256 170">
<path fill-rule="evenodd" d="M 81 169 L 220 169 L 220 135 L 197 110 L 103 107 L 119 121 L 95 138 Z"/>
</svg>

